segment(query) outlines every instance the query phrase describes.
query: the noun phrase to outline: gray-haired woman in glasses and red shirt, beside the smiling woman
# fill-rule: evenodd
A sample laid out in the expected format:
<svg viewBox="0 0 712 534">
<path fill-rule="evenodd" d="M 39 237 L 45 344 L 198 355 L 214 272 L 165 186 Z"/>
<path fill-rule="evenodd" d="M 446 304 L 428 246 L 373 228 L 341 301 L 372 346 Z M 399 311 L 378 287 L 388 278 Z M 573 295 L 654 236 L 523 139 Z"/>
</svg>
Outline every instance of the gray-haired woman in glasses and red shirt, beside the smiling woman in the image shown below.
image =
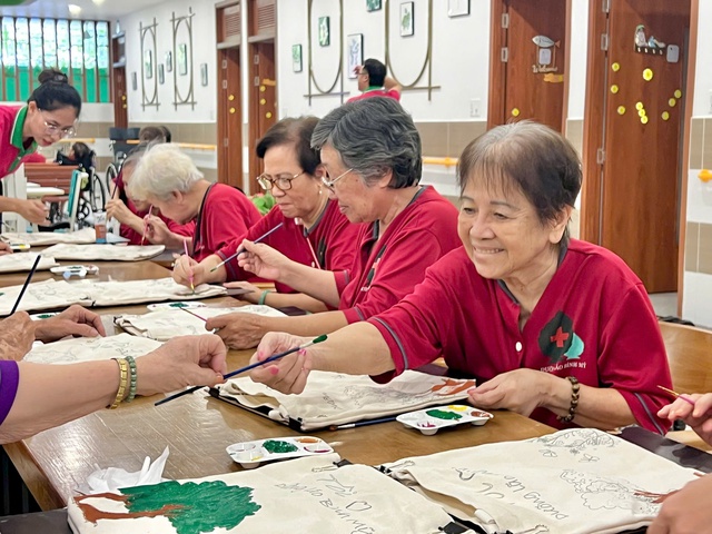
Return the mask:
<svg viewBox="0 0 712 534">
<path fill-rule="evenodd" d="M 432 187 L 418 185 L 421 137 L 398 102 L 373 98 L 346 103 L 319 121 L 312 146 L 320 150 L 329 198 L 349 221 L 364 222 L 352 269 L 319 270 L 247 240 L 239 265 L 338 309 L 304 317 L 230 314 L 209 319 L 206 328 L 217 328 L 231 347 L 254 347 L 273 330 L 320 335 L 384 312 L 459 245 L 455 207 Z"/>
</svg>

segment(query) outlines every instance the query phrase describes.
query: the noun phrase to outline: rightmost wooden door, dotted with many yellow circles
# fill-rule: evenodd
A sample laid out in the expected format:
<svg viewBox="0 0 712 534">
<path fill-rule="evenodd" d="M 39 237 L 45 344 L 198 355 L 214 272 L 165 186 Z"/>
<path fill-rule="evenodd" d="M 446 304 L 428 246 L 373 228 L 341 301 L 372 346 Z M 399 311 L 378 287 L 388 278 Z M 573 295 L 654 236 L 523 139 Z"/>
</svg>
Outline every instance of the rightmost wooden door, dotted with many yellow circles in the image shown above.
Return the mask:
<svg viewBox="0 0 712 534">
<path fill-rule="evenodd" d="M 581 236 L 621 256 L 650 293 L 675 291 L 690 0 L 591 9 Z"/>
</svg>

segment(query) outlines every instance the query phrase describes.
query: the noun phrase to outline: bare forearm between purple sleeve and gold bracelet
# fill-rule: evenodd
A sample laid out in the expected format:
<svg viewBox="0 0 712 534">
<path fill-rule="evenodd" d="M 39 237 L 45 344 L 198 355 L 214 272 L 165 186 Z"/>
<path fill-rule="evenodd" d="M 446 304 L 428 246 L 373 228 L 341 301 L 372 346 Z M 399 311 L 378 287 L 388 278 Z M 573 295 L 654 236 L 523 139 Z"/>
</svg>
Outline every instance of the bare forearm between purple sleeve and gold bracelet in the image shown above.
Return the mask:
<svg viewBox="0 0 712 534">
<path fill-rule="evenodd" d="M 109 406 L 119 388 L 115 360 L 71 365 L 20 362 L 17 396 L 0 426 L 10 443 Z"/>
</svg>

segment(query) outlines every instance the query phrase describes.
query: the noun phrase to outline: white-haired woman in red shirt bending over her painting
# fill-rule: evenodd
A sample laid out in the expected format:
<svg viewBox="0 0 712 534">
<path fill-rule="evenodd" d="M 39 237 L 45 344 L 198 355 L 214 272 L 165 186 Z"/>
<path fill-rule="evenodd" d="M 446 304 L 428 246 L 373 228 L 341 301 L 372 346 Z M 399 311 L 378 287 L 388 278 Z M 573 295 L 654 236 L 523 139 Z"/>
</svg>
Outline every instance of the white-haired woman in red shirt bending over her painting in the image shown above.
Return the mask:
<svg viewBox="0 0 712 534">
<path fill-rule="evenodd" d="M 195 221 L 191 237 L 179 237 L 178 243 L 168 245 L 182 248 L 182 241 L 187 240 L 190 257 L 197 261 L 245 235 L 260 217 L 241 191 L 206 180 L 190 157 L 171 144 L 156 145 L 146 151 L 131 176 L 128 192 L 179 225 Z M 155 243 L 169 240 L 160 219 L 149 215 L 146 224 L 147 238 Z"/>
</svg>

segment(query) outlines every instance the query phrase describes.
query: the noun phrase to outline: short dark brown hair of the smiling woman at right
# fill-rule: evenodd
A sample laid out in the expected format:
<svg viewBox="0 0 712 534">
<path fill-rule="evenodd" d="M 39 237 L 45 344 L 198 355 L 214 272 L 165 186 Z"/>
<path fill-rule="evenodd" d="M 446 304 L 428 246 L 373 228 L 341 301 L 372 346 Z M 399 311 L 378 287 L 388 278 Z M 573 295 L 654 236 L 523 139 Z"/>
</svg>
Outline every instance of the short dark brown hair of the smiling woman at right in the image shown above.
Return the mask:
<svg viewBox="0 0 712 534">
<path fill-rule="evenodd" d="M 457 164 L 461 192 L 474 180 L 495 190 L 514 187 L 542 224 L 558 220 L 565 206 L 574 206 L 581 179 L 581 160 L 571 142 L 531 120 L 491 129 L 465 147 Z M 568 228 L 561 243 L 568 243 Z"/>
</svg>

